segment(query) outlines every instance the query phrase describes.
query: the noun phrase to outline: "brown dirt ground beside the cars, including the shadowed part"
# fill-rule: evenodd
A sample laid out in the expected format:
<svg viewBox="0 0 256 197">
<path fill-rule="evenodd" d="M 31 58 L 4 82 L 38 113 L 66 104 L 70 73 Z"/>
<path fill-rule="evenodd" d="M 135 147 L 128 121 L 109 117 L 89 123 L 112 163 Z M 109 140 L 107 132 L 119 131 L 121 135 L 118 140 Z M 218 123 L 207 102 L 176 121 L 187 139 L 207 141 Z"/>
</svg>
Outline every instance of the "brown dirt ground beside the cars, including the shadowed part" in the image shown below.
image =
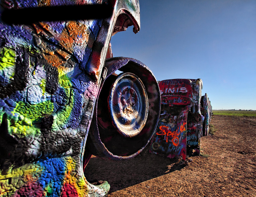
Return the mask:
<svg viewBox="0 0 256 197">
<path fill-rule="evenodd" d="M 214 115 L 214 135 L 187 166 L 142 153 L 126 161 L 91 158 L 87 180 L 107 180 L 108 196 L 256 196 L 256 118 Z"/>
</svg>

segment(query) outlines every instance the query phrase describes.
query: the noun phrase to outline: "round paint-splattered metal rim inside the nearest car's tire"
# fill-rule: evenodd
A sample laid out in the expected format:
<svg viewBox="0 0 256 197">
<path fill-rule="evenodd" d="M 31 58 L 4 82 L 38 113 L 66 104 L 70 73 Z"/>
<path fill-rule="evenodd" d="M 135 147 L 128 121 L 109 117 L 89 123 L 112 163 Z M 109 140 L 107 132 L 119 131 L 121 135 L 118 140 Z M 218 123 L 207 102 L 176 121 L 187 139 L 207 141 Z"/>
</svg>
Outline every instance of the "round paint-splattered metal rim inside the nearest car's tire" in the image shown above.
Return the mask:
<svg viewBox="0 0 256 197">
<path fill-rule="evenodd" d="M 129 72 L 118 75 L 108 97 L 108 108 L 121 135 L 138 135 L 148 117 L 148 95 L 140 78 Z"/>
</svg>

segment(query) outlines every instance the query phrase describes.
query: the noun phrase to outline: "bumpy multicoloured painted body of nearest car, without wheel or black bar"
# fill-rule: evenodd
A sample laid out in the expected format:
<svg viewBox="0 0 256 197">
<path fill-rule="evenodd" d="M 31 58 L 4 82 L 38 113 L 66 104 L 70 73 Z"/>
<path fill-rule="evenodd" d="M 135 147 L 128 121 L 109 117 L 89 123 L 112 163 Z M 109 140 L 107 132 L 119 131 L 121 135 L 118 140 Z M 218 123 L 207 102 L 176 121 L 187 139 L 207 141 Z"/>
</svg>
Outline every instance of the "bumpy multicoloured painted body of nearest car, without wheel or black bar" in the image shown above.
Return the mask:
<svg viewBox="0 0 256 197">
<path fill-rule="evenodd" d="M 4 0 L 1 5 L 102 3 Z M 121 5 L 133 18 L 139 13 L 138 1 L 107 3 L 113 16 L 106 19 L 0 21 L 0 196 L 107 195 L 107 182 L 94 186 L 86 181 L 81 161 L 117 14 Z"/>
</svg>

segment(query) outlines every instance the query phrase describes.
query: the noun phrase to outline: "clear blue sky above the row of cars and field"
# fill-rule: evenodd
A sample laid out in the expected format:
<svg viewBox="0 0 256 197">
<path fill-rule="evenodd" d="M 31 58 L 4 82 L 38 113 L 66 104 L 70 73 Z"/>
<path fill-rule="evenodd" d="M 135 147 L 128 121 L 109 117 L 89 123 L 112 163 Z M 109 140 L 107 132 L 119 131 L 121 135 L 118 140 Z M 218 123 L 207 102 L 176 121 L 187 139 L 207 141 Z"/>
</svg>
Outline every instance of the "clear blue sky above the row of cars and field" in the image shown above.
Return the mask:
<svg viewBox="0 0 256 197">
<path fill-rule="evenodd" d="M 212 109 L 256 110 L 256 0 L 140 0 L 140 32 L 111 45 L 158 81 L 201 78 Z"/>
</svg>

